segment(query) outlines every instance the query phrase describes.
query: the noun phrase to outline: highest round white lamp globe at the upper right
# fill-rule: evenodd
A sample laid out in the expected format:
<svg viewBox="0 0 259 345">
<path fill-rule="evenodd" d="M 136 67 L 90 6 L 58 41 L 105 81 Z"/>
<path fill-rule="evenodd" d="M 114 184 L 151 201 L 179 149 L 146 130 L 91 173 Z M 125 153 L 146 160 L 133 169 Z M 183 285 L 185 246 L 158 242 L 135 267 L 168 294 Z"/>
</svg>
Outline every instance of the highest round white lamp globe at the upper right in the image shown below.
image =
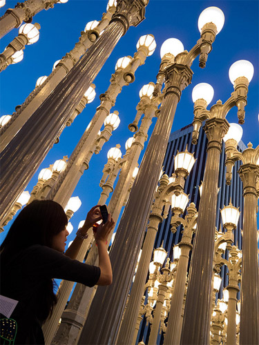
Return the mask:
<svg viewBox="0 0 259 345">
<path fill-rule="evenodd" d="M 200 14 L 200 17 L 198 19 L 198 28 L 200 32 L 202 32 L 202 28 L 207 23 L 213 23 L 217 27 L 217 34 L 221 31 L 221 29 L 224 26 L 224 13 L 220 8 L 211 6 L 208 8 L 205 8 L 205 10 L 202 11 Z"/>
</svg>

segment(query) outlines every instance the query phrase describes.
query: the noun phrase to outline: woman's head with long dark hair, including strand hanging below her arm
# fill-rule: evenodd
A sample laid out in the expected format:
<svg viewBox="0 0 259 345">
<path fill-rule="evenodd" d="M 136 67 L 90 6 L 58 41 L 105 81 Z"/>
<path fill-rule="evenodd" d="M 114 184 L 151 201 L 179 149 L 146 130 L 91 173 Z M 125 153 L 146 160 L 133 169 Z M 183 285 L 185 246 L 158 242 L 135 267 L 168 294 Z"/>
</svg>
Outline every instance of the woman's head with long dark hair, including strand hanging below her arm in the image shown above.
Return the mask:
<svg viewBox="0 0 259 345">
<path fill-rule="evenodd" d="M 0 247 L 1 260 L 12 261 L 17 253 L 34 244 L 52 247 L 53 236 L 64 230 L 68 224 L 66 213 L 61 205 L 52 200 L 34 200 L 23 208 L 12 223 L 6 239 Z M 47 282 L 46 282 L 47 283 Z M 46 295 L 43 299 L 44 317 L 48 317 L 57 297 L 53 293 L 53 281 L 46 284 Z"/>
</svg>

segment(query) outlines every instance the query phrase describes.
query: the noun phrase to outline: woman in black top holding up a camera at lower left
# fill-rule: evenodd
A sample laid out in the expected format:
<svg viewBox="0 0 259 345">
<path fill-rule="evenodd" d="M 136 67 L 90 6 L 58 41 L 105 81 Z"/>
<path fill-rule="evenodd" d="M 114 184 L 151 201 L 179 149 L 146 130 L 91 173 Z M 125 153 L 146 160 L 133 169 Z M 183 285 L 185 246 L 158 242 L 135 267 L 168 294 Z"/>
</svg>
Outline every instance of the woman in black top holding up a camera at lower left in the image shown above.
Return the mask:
<svg viewBox="0 0 259 345">
<path fill-rule="evenodd" d="M 35 200 L 21 210 L 0 248 L 1 295 L 19 301 L 11 318 L 17 322 L 15 344 L 44 344 L 41 325 L 51 315 L 57 297 L 53 279 L 86 286 L 109 285 L 113 279 L 106 241 L 115 222 L 94 232 L 99 267 L 75 260 L 87 232 L 102 219 L 99 205 L 88 212 L 84 226 L 64 254 L 68 220 L 63 208 L 52 200 Z"/>
</svg>

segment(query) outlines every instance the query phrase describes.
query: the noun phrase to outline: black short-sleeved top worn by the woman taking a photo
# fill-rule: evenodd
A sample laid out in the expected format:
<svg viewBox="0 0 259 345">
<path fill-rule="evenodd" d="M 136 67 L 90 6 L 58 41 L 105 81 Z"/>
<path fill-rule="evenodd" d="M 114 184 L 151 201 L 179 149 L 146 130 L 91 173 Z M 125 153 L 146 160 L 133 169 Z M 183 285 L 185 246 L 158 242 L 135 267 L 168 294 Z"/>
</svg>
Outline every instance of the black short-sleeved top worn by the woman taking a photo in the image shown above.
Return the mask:
<svg viewBox="0 0 259 345">
<path fill-rule="evenodd" d="M 1 295 L 19 301 L 10 317 L 17 321 L 15 344 L 44 344 L 39 325 L 48 317 L 44 296 L 50 279 L 94 286 L 100 273 L 97 266 L 83 264 L 40 245 L 22 250 L 8 263 L 1 259 Z"/>
</svg>

